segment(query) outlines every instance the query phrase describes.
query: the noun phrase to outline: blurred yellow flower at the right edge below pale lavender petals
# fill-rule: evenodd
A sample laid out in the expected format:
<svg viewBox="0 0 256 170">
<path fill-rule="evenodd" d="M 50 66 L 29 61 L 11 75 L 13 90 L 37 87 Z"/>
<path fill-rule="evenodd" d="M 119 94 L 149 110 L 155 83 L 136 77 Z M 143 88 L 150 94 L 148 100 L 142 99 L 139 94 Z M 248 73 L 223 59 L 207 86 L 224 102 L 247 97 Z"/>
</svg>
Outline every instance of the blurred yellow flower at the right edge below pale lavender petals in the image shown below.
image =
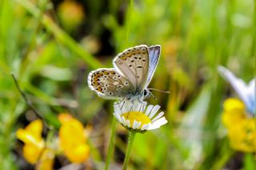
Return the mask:
<svg viewBox="0 0 256 170">
<path fill-rule="evenodd" d="M 232 148 L 242 152 L 256 151 L 256 118 L 248 116 L 242 101 L 230 98 L 224 102 L 222 122 L 228 128 Z"/>
</svg>

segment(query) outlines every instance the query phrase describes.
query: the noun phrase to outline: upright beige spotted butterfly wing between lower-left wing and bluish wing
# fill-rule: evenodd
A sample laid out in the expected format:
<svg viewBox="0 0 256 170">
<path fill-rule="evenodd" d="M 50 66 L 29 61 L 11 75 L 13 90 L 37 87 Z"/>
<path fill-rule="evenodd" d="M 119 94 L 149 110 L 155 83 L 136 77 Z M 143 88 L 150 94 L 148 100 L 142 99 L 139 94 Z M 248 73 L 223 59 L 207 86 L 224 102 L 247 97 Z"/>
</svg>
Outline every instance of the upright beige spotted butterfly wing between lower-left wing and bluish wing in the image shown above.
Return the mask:
<svg viewBox="0 0 256 170">
<path fill-rule="evenodd" d="M 149 71 L 149 50 L 146 45 L 134 46 L 118 53 L 113 65 L 132 83 L 134 92 L 145 89 Z"/>
</svg>

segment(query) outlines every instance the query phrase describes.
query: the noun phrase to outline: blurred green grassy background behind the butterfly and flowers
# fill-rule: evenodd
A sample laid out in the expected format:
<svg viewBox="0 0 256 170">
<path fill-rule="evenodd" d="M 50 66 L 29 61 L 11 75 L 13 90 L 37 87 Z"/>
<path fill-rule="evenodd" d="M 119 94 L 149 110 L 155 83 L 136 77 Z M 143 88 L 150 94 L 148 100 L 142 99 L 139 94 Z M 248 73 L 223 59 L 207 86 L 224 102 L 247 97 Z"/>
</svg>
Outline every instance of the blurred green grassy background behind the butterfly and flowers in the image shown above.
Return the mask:
<svg viewBox="0 0 256 170">
<path fill-rule="evenodd" d="M 113 67 L 134 45 L 162 45 L 148 100 L 162 106 L 168 125 L 138 134 L 130 169 L 256 169 L 234 152 L 221 122 L 222 102 L 235 96 L 217 72 L 225 65 L 249 81 L 256 76 L 254 0 L 0 0 L 0 169 L 31 169 L 15 131 L 35 119 L 34 108 L 58 128 L 69 112 L 90 134 L 92 169 L 106 159 L 113 101 L 90 91 L 87 75 Z M 118 125 L 111 167 L 121 167 L 127 132 Z M 56 160 L 54 168 L 68 163 Z M 111 168 L 110 168 L 111 169 Z"/>
</svg>

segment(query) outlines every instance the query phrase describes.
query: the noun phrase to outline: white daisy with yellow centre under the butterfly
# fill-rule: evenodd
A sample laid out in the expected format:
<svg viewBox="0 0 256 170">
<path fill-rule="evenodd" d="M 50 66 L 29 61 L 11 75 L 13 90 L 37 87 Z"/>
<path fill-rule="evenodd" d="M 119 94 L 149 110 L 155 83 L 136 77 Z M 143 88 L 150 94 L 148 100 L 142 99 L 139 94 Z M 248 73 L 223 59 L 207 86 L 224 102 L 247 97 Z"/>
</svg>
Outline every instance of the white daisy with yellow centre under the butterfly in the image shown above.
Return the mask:
<svg viewBox="0 0 256 170">
<path fill-rule="evenodd" d="M 146 105 L 146 102 L 122 101 L 114 103 L 114 117 L 129 130 L 146 132 L 167 123 L 163 112 L 158 113 L 159 105 Z"/>
</svg>

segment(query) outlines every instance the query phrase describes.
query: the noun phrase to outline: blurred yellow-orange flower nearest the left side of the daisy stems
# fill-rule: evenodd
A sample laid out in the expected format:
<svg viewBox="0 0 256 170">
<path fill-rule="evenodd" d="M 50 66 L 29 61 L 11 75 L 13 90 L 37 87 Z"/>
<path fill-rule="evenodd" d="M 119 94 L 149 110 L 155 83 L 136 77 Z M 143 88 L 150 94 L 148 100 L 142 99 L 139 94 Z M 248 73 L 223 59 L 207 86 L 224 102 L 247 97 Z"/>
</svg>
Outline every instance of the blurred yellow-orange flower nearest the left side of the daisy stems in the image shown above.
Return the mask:
<svg viewBox="0 0 256 170">
<path fill-rule="evenodd" d="M 60 114 L 59 142 L 66 157 L 73 163 L 81 163 L 89 158 L 90 147 L 86 144 L 86 132 L 82 123 L 69 114 Z"/>
</svg>

